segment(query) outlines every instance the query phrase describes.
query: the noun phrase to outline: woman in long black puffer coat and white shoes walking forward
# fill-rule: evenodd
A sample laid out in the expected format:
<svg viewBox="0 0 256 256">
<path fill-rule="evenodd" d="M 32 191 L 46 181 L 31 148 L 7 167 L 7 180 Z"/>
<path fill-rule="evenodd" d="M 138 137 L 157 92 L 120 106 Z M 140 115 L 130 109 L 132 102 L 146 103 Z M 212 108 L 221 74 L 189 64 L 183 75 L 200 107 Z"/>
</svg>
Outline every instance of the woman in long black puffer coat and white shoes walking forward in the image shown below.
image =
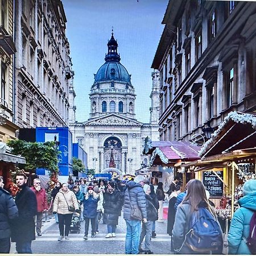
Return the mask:
<svg viewBox="0 0 256 256">
<path fill-rule="evenodd" d="M 118 217 L 121 214 L 123 199 L 121 193 L 116 189 L 114 182 L 110 181 L 104 193 L 103 202 L 103 224 L 107 225 L 108 234 L 106 238 L 115 237 L 115 229 L 118 225 Z"/>
</svg>

